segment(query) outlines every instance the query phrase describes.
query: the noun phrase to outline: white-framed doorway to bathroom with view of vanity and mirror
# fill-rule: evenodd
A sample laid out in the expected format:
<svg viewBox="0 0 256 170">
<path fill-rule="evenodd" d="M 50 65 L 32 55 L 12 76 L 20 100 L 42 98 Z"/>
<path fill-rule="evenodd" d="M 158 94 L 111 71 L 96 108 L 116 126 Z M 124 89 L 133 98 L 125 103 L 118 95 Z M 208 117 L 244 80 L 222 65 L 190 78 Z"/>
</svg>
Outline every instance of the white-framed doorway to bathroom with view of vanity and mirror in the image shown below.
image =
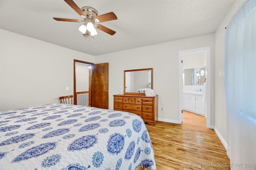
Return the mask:
<svg viewBox="0 0 256 170">
<path fill-rule="evenodd" d="M 204 58 L 200 58 L 201 55 L 204 56 Z M 192 63 L 193 66 L 191 66 Z M 179 51 L 180 124 L 183 121 L 183 110 L 185 109 L 187 111 L 193 111 L 198 115 L 204 115 L 206 117 L 206 127 L 213 128 L 213 126 L 211 126 L 210 106 L 210 66 L 210 47 Z M 207 85 L 204 85 L 205 82 L 207 82 Z M 204 90 L 203 93 L 202 90 Z M 189 100 L 192 102 L 189 103 Z M 203 107 L 201 105 L 203 105 Z"/>
</svg>

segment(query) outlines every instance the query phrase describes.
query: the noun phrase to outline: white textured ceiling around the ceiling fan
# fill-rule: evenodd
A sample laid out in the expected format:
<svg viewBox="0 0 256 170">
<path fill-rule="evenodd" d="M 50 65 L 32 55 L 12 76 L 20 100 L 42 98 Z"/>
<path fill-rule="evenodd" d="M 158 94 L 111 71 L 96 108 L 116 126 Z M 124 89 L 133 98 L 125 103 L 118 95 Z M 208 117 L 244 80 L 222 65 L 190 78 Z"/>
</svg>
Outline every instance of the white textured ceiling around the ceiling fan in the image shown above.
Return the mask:
<svg viewBox="0 0 256 170">
<path fill-rule="evenodd" d="M 64 0 L 0 0 L 0 28 L 24 36 L 102 55 L 136 47 L 214 33 L 234 0 L 74 0 L 98 15 L 114 12 L 118 20 L 102 22 L 116 34 L 86 40 L 78 30 L 82 20 Z"/>
</svg>

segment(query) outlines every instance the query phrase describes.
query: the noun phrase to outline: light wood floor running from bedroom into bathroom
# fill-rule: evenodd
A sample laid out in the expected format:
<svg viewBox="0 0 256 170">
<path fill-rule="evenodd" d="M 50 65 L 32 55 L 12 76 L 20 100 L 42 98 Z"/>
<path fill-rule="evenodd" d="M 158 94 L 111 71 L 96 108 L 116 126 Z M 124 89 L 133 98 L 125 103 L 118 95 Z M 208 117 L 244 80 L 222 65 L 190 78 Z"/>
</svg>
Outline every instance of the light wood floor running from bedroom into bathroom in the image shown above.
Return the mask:
<svg viewBox="0 0 256 170">
<path fill-rule="evenodd" d="M 182 125 L 146 124 L 157 170 L 229 170 L 226 149 L 214 130 L 206 128 L 206 118 L 186 111 L 183 115 Z"/>
</svg>

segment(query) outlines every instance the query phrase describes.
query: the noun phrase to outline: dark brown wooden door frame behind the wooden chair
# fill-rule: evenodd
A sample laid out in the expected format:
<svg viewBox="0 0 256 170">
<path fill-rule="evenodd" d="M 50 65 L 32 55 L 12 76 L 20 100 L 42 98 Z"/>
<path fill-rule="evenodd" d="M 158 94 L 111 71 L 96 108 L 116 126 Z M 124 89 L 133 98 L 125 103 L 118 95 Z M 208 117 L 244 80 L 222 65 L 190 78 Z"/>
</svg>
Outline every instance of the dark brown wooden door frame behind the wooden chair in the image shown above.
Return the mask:
<svg viewBox="0 0 256 170">
<path fill-rule="evenodd" d="M 77 59 L 74 59 L 74 105 L 77 105 L 77 96 L 76 96 L 76 62 L 79 62 L 79 63 L 85 63 L 85 64 L 94 64 L 94 63 L 90 63 L 90 62 L 87 62 L 87 61 L 81 61 L 81 60 L 77 60 Z M 92 93 L 92 70 L 89 69 L 89 101 L 92 101 L 91 100 L 91 93 Z M 89 105 L 91 105 L 91 103 L 89 103 Z"/>
</svg>

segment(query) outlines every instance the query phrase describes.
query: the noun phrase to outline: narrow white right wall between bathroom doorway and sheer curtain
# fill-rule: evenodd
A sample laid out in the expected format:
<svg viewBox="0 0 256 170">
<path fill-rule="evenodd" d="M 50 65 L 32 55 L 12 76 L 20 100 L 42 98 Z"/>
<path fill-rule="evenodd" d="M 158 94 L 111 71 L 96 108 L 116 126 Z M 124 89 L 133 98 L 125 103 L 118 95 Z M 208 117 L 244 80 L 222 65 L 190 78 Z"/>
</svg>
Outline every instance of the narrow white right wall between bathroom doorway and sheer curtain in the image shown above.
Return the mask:
<svg viewBox="0 0 256 170">
<path fill-rule="evenodd" d="M 225 27 L 246 0 L 236 0 L 215 32 L 215 127 L 227 141 L 226 98 L 224 86 Z M 224 144 L 225 145 L 225 144 Z M 226 147 L 226 146 L 225 146 Z"/>
</svg>

